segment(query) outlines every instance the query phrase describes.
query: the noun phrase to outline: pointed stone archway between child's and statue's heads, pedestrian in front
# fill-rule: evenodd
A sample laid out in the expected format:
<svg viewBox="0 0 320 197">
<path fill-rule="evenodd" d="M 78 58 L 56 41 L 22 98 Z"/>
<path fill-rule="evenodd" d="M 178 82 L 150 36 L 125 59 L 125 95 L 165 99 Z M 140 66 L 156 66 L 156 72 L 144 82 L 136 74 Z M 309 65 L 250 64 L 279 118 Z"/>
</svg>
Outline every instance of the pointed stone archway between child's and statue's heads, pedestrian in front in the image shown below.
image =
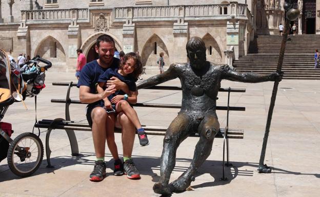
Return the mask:
<svg viewBox="0 0 320 197">
<path fill-rule="evenodd" d="M 145 43 L 145 46 L 141 53 L 141 60 L 143 66 L 151 65 L 156 67 L 156 62 L 161 52 L 164 52 L 165 65 L 170 65 L 169 53 L 165 43 L 158 35 L 153 34 Z"/>
</svg>

